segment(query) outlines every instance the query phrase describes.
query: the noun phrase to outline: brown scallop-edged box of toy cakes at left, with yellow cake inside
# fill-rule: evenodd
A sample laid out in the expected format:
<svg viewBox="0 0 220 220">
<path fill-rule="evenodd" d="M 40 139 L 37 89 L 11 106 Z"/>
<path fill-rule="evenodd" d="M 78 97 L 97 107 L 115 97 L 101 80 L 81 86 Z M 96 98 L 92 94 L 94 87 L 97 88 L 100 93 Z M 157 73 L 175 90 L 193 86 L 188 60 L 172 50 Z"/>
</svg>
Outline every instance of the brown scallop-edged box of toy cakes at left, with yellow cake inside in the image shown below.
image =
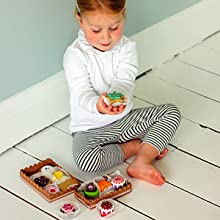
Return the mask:
<svg viewBox="0 0 220 220">
<path fill-rule="evenodd" d="M 49 202 L 72 193 L 80 185 L 79 180 L 51 159 L 21 169 L 20 176 Z"/>
</svg>

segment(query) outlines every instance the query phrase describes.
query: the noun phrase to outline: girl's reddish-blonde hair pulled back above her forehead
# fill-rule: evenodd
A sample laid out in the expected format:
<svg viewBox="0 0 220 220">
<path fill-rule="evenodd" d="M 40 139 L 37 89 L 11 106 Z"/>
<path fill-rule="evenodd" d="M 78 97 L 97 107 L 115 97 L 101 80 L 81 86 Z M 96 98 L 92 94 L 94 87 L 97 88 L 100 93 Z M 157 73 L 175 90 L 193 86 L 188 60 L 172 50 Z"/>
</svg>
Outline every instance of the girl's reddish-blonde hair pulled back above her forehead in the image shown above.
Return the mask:
<svg viewBox="0 0 220 220">
<path fill-rule="evenodd" d="M 126 0 L 77 0 L 75 14 L 80 16 L 97 10 L 116 14 L 125 8 L 125 2 Z"/>
</svg>

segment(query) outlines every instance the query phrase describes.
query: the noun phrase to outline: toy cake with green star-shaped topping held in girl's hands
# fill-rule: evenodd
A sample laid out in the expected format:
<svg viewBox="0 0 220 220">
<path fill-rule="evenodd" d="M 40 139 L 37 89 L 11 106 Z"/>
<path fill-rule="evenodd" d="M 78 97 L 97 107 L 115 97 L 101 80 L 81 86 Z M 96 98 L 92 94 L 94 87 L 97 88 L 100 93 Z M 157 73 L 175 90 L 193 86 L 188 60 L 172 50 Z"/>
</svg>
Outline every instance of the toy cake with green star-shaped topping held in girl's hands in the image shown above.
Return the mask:
<svg viewBox="0 0 220 220">
<path fill-rule="evenodd" d="M 108 93 L 106 96 L 104 96 L 104 102 L 106 105 L 112 105 L 112 106 L 119 106 L 121 104 L 126 104 L 126 98 L 122 93 Z"/>
</svg>

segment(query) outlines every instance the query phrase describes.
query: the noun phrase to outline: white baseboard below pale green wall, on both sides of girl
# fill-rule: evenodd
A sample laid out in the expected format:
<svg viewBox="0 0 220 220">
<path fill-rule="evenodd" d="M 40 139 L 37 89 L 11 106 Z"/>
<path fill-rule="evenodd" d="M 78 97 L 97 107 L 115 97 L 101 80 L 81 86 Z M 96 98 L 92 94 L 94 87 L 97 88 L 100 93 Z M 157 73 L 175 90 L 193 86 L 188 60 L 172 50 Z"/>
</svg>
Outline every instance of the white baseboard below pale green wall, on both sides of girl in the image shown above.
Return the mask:
<svg viewBox="0 0 220 220">
<path fill-rule="evenodd" d="M 140 73 L 220 30 L 220 1 L 202 2 L 141 31 Z M 63 71 L 0 103 L 0 153 L 69 114 Z"/>
</svg>

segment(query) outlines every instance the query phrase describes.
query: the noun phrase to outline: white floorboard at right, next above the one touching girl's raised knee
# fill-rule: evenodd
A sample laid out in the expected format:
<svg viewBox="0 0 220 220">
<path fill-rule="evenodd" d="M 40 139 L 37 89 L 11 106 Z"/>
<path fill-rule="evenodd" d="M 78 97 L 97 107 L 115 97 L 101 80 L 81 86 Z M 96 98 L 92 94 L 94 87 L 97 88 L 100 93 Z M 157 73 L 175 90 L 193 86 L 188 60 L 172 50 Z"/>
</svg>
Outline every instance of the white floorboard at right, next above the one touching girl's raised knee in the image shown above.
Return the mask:
<svg viewBox="0 0 220 220">
<path fill-rule="evenodd" d="M 220 103 L 219 75 L 210 74 L 178 60 L 161 65 L 153 75 Z"/>
</svg>

